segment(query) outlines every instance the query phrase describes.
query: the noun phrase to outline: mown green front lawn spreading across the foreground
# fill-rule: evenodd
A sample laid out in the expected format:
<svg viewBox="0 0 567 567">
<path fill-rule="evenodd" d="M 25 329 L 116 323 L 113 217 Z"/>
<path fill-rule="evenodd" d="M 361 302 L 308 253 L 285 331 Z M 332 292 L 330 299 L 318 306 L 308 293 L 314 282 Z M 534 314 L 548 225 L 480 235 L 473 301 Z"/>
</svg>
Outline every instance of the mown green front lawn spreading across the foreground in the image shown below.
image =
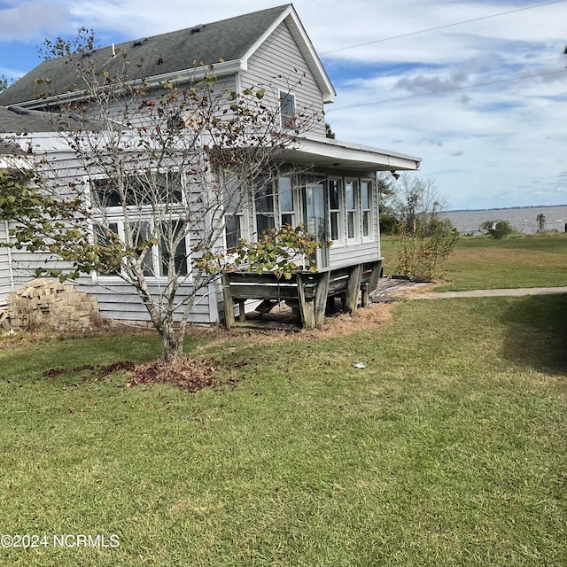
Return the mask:
<svg viewBox="0 0 567 567">
<path fill-rule="evenodd" d="M 2 532 L 120 546 L 0 548 L 0 563 L 563 566 L 566 309 L 411 301 L 346 336 L 191 341 L 239 379 L 196 394 L 70 370 L 149 360 L 151 335 L 12 341 Z"/>
</svg>

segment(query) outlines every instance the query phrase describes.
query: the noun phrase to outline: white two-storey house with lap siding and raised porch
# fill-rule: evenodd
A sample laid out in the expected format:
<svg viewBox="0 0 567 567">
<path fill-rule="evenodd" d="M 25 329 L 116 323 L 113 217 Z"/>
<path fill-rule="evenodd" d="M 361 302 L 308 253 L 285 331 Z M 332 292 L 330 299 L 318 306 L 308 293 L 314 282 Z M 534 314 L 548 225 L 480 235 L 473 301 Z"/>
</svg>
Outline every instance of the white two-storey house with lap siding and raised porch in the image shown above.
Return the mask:
<svg viewBox="0 0 567 567">
<path fill-rule="evenodd" d="M 313 326 L 322 322 L 329 299 L 342 297 L 347 309 L 356 307 L 360 291 L 364 300 L 377 283 L 382 261 L 376 173 L 413 171 L 421 159 L 325 136 L 324 108 L 334 102 L 336 92 L 293 6 L 285 4 L 111 45 L 83 53 L 83 57 L 90 58 L 94 66 L 111 68 L 116 65 L 116 54 L 126 52 L 128 60 L 145 62 L 144 82 L 150 86 L 167 81 L 183 84 L 183 77 L 189 84 L 191 77 L 201 70 L 205 74 L 210 67 L 224 89 L 238 93 L 267 85 L 281 105 L 282 120 L 292 119 L 299 108 L 309 108 L 314 117 L 309 131 L 301 132 L 283 154 L 291 170 L 308 167 L 308 175 L 276 175 L 264 198 L 252 199 L 250 206 L 231 215 L 223 245 L 235 244 L 237 237 L 254 240 L 268 227 L 303 222 L 319 240 L 332 243 L 318 255 L 316 272 L 298 274 L 285 284 L 271 274 L 234 274 L 225 278 L 223 285 L 211 282 L 192 307 L 190 321 L 231 324 L 233 302 L 244 318 L 246 299 L 287 299 L 298 307 L 306 325 Z M 139 67 L 127 66 L 124 72 L 127 81 L 140 80 Z M 299 80 L 291 81 L 298 76 Z M 38 85 L 45 77 L 49 77 L 49 91 Z M 14 151 L 17 159 L 32 162 L 36 154 L 49 152 L 58 154 L 62 163 L 72 160 L 69 149 L 55 142 L 52 121 L 46 118 L 42 122 L 41 115 L 57 111 L 67 100 L 87 97 L 65 58 L 44 61 L 0 93 L 0 105 L 4 106 L 0 106 L 0 167 L 10 165 Z M 120 219 L 115 224 L 119 227 Z M 3 222 L 0 239 L 8 237 L 7 230 L 8 223 Z M 183 243 L 181 251 L 188 256 L 190 240 Z M 26 252 L 0 248 L 0 300 L 29 279 L 29 268 L 36 260 Z M 92 274 L 82 276 L 78 283 L 82 291 L 97 298 L 102 315 L 147 319 L 139 296 L 116 276 Z M 156 292 L 163 284 L 157 263 L 150 284 Z M 180 292 L 190 286 L 188 277 Z"/>
</svg>

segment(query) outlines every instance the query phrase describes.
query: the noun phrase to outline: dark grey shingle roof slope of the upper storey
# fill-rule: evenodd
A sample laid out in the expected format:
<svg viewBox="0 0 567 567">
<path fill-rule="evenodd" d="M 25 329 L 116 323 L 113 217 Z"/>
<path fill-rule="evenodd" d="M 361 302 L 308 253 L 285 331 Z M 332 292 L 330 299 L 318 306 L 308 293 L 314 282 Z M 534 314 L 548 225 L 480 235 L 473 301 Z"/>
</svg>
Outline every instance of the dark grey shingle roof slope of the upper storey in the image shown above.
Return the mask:
<svg viewBox="0 0 567 567">
<path fill-rule="evenodd" d="M 136 41 L 120 43 L 92 51 L 89 57 L 95 68 L 108 70 L 112 75 L 128 60 L 128 80 L 175 73 L 203 63 L 212 65 L 221 59 L 234 61 L 243 58 L 248 50 L 267 31 L 290 4 L 253 12 L 236 18 L 223 19 L 205 26 L 188 27 L 168 34 L 154 35 Z M 113 57 L 113 49 L 118 57 Z M 120 57 L 126 54 L 127 57 Z M 15 105 L 35 100 L 42 93 L 64 94 L 82 90 L 68 58 L 44 61 L 24 75 L 9 89 L 0 93 L 0 105 Z M 141 65 L 140 62 L 142 62 Z M 38 84 L 37 79 L 50 79 L 50 85 Z"/>
</svg>

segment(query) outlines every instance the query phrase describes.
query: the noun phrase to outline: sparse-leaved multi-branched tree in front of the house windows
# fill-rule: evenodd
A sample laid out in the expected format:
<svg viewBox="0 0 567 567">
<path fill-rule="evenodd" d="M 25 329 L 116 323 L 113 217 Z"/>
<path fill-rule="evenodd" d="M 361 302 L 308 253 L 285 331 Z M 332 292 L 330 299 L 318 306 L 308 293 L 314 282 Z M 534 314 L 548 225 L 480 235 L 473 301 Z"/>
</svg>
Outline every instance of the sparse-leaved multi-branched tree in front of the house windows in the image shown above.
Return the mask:
<svg viewBox="0 0 567 567">
<path fill-rule="evenodd" d="M 88 50 L 47 47 L 65 53 L 77 77 L 79 92 L 57 99 L 56 117 L 77 168 L 46 154 L 36 171 L 39 200 L 11 210 L 18 245 L 66 262 L 38 273 L 120 277 L 142 299 L 165 359 L 175 361 L 196 302 L 234 269 L 227 226 L 272 187 L 312 113 L 299 109 L 283 120 L 274 90 L 223 89 L 209 67 L 154 84 L 127 80 L 135 65 L 127 53 L 100 68 Z M 144 76 L 144 62 L 137 65 Z M 50 78 L 39 83 L 52 101 Z"/>
</svg>

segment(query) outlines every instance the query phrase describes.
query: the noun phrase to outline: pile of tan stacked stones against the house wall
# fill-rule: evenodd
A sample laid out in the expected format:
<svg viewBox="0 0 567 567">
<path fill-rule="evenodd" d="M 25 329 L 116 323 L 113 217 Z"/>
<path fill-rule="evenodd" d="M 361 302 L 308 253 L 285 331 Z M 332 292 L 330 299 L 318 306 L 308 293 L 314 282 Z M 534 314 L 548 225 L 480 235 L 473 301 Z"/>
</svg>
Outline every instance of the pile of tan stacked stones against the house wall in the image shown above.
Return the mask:
<svg viewBox="0 0 567 567">
<path fill-rule="evenodd" d="M 98 313 L 97 299 L 72 285 L 39 278 L 8 294 L 4 321 L 12 330 L 83 331 L 93 328 Z"/>
</svg>

